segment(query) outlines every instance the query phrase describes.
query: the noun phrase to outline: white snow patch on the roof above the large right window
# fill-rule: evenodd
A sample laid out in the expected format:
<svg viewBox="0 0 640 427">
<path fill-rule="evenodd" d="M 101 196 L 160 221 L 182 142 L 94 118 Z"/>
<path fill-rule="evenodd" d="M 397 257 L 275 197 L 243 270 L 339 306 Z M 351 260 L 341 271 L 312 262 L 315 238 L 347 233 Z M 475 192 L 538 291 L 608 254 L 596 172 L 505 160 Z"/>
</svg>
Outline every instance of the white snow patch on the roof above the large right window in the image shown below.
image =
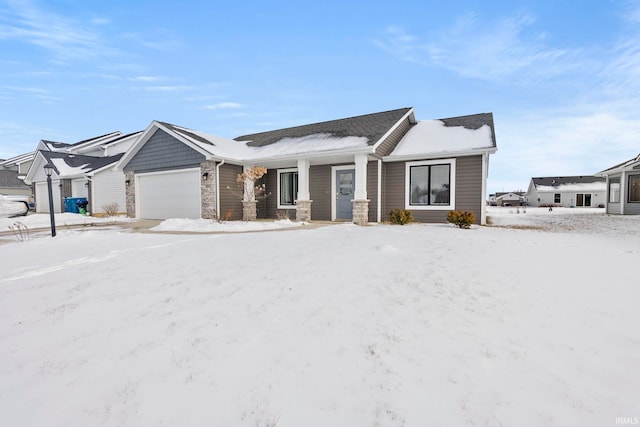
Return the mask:
<svg viewBox="0 0 640 427">
<path fill-rule="evenodd" d="M 422 120 L 409 129 L 389 157 L 452 153 L 494 148 L 491 128 L 445 126 L 441 120 Z"/>
</svg>

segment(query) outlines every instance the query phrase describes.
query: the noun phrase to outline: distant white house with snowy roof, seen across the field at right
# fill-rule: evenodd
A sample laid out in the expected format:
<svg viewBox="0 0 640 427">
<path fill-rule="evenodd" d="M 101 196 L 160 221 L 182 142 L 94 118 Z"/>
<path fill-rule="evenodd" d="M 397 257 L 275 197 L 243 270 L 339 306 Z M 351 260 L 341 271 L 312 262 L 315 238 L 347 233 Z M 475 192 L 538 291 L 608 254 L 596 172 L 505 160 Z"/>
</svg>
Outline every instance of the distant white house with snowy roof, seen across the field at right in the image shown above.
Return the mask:
<svg viewBox="0 0 640 427">
<path fill-rule="evenodd" d="M 528 206 L 604 207 L 606 184 L 597 176 L 531 178 Z"/>
</svg>

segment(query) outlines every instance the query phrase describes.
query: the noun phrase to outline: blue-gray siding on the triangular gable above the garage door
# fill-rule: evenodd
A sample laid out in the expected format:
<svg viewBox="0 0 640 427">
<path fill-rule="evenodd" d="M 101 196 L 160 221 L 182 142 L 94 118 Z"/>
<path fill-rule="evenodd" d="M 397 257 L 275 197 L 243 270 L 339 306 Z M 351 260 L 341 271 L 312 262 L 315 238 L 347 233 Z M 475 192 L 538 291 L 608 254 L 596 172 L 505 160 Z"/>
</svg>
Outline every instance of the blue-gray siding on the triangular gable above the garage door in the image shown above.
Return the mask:
<svg viewBox="0 0 640 427">
<path fill-rule="evenodd" d="M 199 167 L 205 157 L 158 129 L 124 168 L 125 172 L 155 172 Z"/>
</svg>

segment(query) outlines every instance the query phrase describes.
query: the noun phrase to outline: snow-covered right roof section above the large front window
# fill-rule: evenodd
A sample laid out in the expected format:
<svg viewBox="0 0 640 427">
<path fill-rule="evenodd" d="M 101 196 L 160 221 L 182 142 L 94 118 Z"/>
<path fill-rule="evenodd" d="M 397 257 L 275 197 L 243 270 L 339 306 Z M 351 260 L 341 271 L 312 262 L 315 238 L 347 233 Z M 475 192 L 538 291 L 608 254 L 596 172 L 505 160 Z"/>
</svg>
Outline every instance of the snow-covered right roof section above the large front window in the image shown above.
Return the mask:
<svg viewBox="0 0 640 427">
<path fill-rule="evenodd" d="M 409 129 L 386 159 L 495 150 L 493 114 L 481 113 L 421 120 Z"/>
</svg>

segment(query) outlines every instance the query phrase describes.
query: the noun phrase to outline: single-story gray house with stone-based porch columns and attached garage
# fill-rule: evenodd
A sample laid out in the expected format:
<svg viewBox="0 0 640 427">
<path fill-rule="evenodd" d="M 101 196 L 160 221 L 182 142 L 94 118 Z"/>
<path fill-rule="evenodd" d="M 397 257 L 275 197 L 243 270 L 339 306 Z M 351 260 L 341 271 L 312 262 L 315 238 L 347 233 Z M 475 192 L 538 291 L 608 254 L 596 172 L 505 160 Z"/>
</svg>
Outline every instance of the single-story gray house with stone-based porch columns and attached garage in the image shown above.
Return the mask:
<svg viewBox="0 0 640 427">
<path fill-rule="evenodd" d="M 491 113 L 417 121 L 413 108 L 239 136 L 233 140 L 153 121 L 116 168 L 136 218 L 384 221 L 409 209 L 445 222 L 469 210 L 485 221 Z M 267 168 L 265 199 L 243 203 L 236 177 Z M 235 191 L 234 191 L 235 190 Z"/>
</svg>

